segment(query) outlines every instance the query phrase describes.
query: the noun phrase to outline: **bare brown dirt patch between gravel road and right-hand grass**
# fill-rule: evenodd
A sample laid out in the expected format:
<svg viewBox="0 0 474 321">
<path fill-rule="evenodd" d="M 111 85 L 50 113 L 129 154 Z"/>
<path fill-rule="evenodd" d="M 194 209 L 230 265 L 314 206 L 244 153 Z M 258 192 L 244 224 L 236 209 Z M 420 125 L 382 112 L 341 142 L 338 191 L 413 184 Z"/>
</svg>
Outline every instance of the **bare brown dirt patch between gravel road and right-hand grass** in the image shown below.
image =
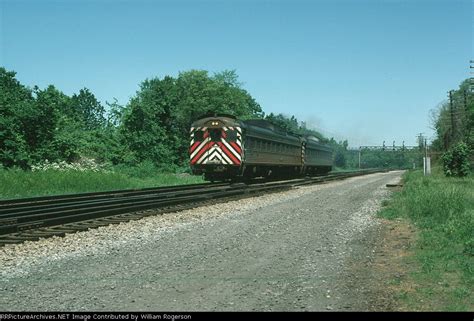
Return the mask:
<svg viewBox="0 0 474 321">
<path fill-rule="evenodd" d="M 407 311 L 397 295 L 414 290 L 405 280 L 416 268 L 412 260 L 406 260 L 413 255 L 416 232 L 405 220 L 380 219 L 380 223 L 377 229 L 352 242 L 360 250 L 353 251 L 341 274 L 348 289 L 342 310 Z M 364 256 L 364 248 L 371 248 L 372 253 Z"/>
</svg>

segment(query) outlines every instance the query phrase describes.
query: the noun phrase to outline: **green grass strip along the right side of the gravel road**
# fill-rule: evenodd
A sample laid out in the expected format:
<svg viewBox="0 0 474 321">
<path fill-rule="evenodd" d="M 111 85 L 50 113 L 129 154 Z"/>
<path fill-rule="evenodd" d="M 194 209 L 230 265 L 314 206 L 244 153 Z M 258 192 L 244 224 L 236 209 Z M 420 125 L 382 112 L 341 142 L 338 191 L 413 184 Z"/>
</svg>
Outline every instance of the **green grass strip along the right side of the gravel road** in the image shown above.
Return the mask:
<svg viewBox="0 0 474 321">
<path fill-rule="evenodd" d="M 406 258 L 414 266 L 395 293 L 404 310 L 474 310 L 474 176 L 424 177 L 407 172 L 404 187 L 380 215 L 408 219 L 417 229 Z"/>
</svg>

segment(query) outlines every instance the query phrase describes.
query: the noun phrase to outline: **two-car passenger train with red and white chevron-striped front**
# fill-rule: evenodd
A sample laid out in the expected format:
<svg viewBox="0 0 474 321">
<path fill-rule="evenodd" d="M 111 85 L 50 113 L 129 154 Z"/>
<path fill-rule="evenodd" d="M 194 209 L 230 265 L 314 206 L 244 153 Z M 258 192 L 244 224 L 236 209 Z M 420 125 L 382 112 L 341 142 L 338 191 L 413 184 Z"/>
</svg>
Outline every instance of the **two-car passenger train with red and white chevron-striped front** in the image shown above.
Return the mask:
<svg viewBox="0 0 474 321">
<path fill-rule="evenodd" d="M 189 133 L 192 173 L 207 181 L 315 176 L 332 169 L 329 146 L 267 120 L 205 115 L 191 124 Z"/>
</svg>

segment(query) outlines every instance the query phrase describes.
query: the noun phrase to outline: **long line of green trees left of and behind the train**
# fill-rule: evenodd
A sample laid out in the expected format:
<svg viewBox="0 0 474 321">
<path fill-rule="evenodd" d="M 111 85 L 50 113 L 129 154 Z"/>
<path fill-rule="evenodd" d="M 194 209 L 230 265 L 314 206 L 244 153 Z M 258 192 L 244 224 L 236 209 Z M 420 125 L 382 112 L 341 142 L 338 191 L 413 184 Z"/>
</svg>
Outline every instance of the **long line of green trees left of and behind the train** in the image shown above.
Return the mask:
<svg viewBox="0 0 474 321">
<path fill-rule="evenodd" d="M 87 88 L 68 96 L 55 86 L 29 88 L 0 68 L 0 164 L 31 168 L 44 162 L 92 158 L 134 166 L 152 162 L 172 170 L 187 166 L 189 127 L 210 111 L 240 119 L 267 119 L 293 133 L 347 148 L 308 129 L 294 116 L 265 115 L 242 88 L 235 71 L 209 75 L 190 70 L 144 80 L 126 105 L 102 105 Z"/>
</svg>

